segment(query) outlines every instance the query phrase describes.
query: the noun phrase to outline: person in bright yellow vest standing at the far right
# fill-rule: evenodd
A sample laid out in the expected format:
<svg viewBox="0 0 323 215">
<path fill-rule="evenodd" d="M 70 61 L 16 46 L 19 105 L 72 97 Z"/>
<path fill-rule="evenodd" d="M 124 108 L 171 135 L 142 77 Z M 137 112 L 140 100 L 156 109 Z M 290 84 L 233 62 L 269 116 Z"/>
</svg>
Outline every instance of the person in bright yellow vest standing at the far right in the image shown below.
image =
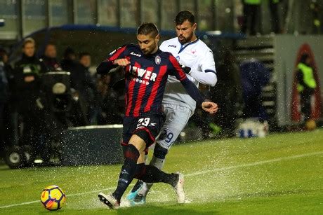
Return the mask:
<svg viewBox="0 0 323 215">
<path fill-rule="evenodd" d="M 301 112 L 304 115 L 304 120 L 310 120 L 311 118 L 311 97 L 317 86 L 315 82 L 312 60 L 308 54 L 303 54 L 300 62 L 297 65 L 297 90 L 301 95 Z"/>
</svg>

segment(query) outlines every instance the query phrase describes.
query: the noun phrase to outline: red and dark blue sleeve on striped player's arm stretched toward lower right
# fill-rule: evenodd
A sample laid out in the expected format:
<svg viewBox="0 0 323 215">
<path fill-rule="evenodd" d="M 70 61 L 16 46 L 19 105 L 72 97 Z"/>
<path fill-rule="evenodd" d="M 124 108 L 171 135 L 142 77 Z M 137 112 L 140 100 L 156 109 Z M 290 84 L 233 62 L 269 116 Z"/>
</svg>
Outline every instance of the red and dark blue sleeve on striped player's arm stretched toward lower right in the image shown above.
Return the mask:
<svg viewBox="0 0 323 215">
<path fill-rule="evenodd" d="M 182 67 L 180 67 L 180 64 L 177 62 L 176 58 L 173 57 L 173 55 L 169 55 L 169 60 L 171 62 L 170 74 L 172 76 L 175 76 L 180 81 L 180 83 L 182 83 L 188 95 L 190 95 L 190 97 L 192 97 L 192 99 L 197 102 L 197 107 L 201 108 L 204 99 L 199 92 L 199 89 L 194 83 L 192 83 L 192 81 L 190 81 L 190 79 L 187 78 Z"/>
</svg>

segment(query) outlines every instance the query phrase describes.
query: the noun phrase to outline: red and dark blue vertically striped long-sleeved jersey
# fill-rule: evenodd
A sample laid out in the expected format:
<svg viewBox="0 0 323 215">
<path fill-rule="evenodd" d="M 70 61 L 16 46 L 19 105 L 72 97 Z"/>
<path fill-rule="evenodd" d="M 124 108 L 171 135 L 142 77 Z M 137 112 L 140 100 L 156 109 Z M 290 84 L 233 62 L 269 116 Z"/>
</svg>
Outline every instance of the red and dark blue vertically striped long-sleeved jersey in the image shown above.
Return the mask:
<svg viewBox="0 0 323 215">
<path fill-rule="evenodd" d="M 162 99 L 169 75 L 175 76 L 187 92 L 202 104 L 203 98 L 197 87 L 187 78 L 185 72 L 171 53 L 157 50 L 145 55 L 137 45 L 127 44 L 110 53 L 107 60 L 97 68 L 98 74 L 105 74 L 117 67 L 114 60 L 126 58 L 130 64 L 125 67 L 126 116 L 140 116 L 140 113 L 162 111 Z"/>
</svg>

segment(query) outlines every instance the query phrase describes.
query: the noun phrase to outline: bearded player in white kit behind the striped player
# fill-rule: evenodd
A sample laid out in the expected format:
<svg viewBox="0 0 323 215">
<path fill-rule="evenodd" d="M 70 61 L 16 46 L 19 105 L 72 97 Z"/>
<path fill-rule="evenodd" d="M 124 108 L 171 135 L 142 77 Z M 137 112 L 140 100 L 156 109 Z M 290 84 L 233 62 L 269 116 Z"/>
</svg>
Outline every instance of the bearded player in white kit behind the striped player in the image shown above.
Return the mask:
<svg viewBox="0 0 323 215">
<path fill-rule="evenodd" d="M 164 41 L 160 46 L 162 51 L 172 53 L 178 62 L 183 65 L 190 81 L 199 85 L 216 85 L 216 67 L 213 53 L 206 44 L 197 38 L 195 30 L 195 16 L 189 11 L 180 11 L 176 15 L 177 37 Z M 183 85 L 173 76 L 169 76 L 162 102 L 166 120 L 160 136 L 154 146 L 154 155 L 150 165 L 162 169 L 165 156 L 187 121 L 195 111 L 196 102 L 187 94 Z M 145 197 L 152 183 L 138 181 L 127 196 L 131 205 L 145 204 Z"/>
</svg>

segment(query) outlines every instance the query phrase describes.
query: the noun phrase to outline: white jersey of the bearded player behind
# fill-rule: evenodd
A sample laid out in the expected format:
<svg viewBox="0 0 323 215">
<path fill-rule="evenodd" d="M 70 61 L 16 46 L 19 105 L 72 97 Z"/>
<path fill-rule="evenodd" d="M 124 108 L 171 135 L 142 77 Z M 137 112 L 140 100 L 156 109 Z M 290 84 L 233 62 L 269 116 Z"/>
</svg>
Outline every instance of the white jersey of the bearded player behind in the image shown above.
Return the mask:
<svg viewBox="0 0 323 215">
<path fill-rule="evenodd" d="M 216 66 L 213 53 L 200 39 L 182 45 L 175 37 L 164 41 L 159 48 L 164 52 L 171 53 L 180 64 L 191 68 L 187 77 L 197 87 L 199 87 L 199 83 L 216 85 Z M 163 103 L 188 106 L 193 112 L 196 106 L 195 100 L 187 94 L 183 85 L 174 76 L 169 76 L 167 80 Z"/>
</svg>

